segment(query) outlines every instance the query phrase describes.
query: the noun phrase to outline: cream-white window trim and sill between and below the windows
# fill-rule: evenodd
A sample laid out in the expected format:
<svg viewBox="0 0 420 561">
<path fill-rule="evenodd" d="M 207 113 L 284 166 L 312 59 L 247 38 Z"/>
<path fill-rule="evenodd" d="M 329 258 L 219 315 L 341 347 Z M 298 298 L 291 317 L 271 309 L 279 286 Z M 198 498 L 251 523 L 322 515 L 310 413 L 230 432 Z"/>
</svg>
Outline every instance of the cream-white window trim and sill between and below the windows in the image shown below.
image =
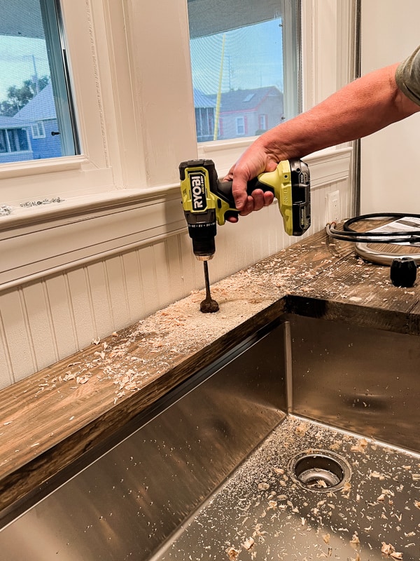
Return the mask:
<svg viewBox="0 0 420 561">
<path fill-rule="evenodd" d="M 302 1 L 304 108 L 346 76 L 352 0 L 338 4 Z M 0 205 L 13 212 L 0 217 L 0 284 L 185 229 L 179 163 L 204 156 L 223 175 L 253 141 L 197 147 L 185 0 L 62 0 L 62 11 L 83 154 L 1 168 Z M 312 185 L 346 177 L 350 152 L 305 158 Z M 35 187 L 64 203 L 20 208 Z"/>
</svg>

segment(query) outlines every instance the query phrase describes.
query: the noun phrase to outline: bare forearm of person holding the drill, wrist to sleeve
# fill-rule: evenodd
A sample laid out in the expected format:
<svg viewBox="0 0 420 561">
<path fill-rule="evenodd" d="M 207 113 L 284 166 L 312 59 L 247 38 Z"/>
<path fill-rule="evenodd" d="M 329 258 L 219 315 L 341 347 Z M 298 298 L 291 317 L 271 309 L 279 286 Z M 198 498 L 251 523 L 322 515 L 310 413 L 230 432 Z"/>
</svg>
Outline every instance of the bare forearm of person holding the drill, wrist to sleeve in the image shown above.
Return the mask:
<svg viewBox="0 0 420 561">
<path fill-rule="evenodd" d="M 256 144 L 278 161 L 303 157 L 365 137 L 420 111 L 396 85 L 396 67 L 353 81 L 313 109 L 269 130 Z"/>
</svg>

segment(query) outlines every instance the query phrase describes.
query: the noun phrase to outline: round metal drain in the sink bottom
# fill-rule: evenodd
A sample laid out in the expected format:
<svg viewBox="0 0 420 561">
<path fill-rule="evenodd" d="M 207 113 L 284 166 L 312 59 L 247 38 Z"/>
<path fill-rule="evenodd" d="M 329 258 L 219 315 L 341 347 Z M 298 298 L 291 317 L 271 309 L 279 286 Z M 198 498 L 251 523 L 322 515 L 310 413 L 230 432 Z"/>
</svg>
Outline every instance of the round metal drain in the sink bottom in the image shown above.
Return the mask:
<svg viewBox="0 0 420 561">
<path fill-rule="evenodd" d="M 351 478 L 349 463 L 333 452 L 309 450 L 290 461 L 290 475 L 305 489 L 338 491 Z"/>
</svg>

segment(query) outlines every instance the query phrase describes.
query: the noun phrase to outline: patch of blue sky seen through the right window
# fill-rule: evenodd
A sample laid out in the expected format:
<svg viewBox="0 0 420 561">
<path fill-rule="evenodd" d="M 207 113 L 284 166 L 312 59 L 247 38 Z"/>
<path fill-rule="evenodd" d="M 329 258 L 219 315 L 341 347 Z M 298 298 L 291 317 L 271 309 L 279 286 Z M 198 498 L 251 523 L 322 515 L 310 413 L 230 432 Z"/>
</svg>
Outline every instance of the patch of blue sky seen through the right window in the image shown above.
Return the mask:
<svg viewBox="0 0 420 561">
<path fill-rule="evenodd" d="M 281 20 L 250 25 L 225 33 L 222 91 L 277 86 L 283 90 Z M 217 93 L 223 34 L 192 39 L 194 87 Z"/>
</svg>

